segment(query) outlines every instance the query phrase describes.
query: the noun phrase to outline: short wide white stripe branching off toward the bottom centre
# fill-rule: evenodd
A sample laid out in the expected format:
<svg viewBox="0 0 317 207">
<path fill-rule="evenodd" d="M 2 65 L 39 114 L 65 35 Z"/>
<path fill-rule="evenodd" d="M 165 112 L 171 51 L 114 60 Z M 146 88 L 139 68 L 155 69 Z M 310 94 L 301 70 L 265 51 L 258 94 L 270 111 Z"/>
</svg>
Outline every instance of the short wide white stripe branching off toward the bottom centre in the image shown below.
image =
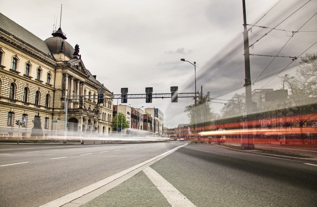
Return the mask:
<svg viewBox="0 0 317 207">
<path fill-rule="evenodd" d="M 172 207 L 196 207 L 172 184 L 167 182 L 159 173 L 151 167 L 147 167 L 143 172 L 149 177 L 153 184 L 159 189 Z"/>
</svg>

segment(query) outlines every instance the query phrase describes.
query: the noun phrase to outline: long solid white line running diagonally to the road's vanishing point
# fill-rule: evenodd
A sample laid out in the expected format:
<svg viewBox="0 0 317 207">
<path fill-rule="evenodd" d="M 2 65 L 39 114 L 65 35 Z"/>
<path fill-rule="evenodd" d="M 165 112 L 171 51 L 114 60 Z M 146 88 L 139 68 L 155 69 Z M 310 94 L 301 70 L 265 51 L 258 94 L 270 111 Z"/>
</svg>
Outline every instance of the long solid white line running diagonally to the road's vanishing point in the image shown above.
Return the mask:
<svg viewBox="0 0 317 207">
<path fill-rule="evenodd" d="M 139 168 L 139 167 L 141 167 L 141 166 L 143 166 L 143 165 L 145 165 L 145 164 L 147 164 L 147 163 L 149 163 L 149 162 L 151 162 L 151 161 L 153 161 L 153 160 L 155 160 L 155 159 L 157 159 L 157 158 L 159 158 L 159 157 L 161 157 L 163 155 L 172 153 L 172 152 L 174 152 L 174 151 L 178 150 L 179 148 L 182 148 L 182 147 L 184 147 L 186 145 L 187 144 L 179 146 L 179 147 L 176 147 L 176 148 L 174 148 L 174 149 L 172 149 L 170 151 L 167 151 L 167 152 L 165 152 L 163 154 L 160 154 L 160 155 L 155 156 L 155 157 L 153 157 L 151 159 L 148 159 L 148 160 L 146 160 L 144 162 L 141 162 L 140 164 L 134 165 L 133 167 L 130 167 L 130 168 L 126 169 L 126 170 L 118 172 L 117 174 L 112 175 L 110 177 L 107 177 L 104 180 L 101 180 L 101 181 L 99 181 L 97 183 L 94 183 L 94 184 L 92 184 L 90 186 L 87 186 L 87 187 L 82 188 L 82 189 L 80 189 L 78 191 L 70 193 L 70 194 L 68 194 L 66 196 L 60 197 L 60 198 L 58 198 L 58 199 L 56 199 L 54 201 L 51 201 L 51 202 L 49 202 L 47 204 L 44 204 L 44 205 L 42 205 L 40 207 L 60 207 L 60 206 L 63 206 L 63 205 L 65 205 L 65 204 L 67 204 L 67 203 L 69 203 L 69 202 L 71 202 L 71 201 L 73 201 L 75 199 L 78 199 L 79 197 L 82 197 L 83 195 L 86 195 L 86 194 L 88 194 L 88 193 L 90 193 L 90 192 L 92 192 L 92 191 L 94 191 L 94 190 L 96 190 L 98 188 L 101 188 L 101 187 L 105 186 L 106 184 L 118 179 L 119 177 L 122 177 L 123 175 L 125 175 L 125 174 L 127 174 L 127 173 L 129 173 L 129 172 L 131 172 L 131 171 L 133 171 L 133 170 L 135 170 L 135 169 L 137 169 L 137 168 Z"/>
</svg>

